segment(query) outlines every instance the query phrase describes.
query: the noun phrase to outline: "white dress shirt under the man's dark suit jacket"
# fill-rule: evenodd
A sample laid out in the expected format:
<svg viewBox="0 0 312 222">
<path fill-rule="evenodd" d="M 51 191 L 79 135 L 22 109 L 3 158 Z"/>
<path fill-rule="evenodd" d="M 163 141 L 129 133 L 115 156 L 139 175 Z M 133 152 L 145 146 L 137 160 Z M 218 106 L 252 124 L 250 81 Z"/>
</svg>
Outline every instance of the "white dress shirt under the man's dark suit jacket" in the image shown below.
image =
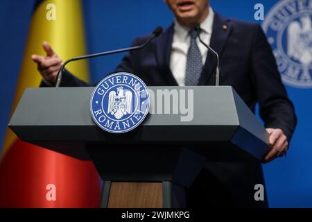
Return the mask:
<svg viewBox="0 0 312 222">
<path fill-rule="evenodd" d="M 210 44 L 212 26 L 214 24 L 214 11 L 209 8 L 209 15 L 200 23 L 202 32 L 200 38 L 206 44 Z M 187 51 L 189 51 L 189 44 L 191 43 L 191 37 L 189 35 L 190 29 L 180 25 L 175 20 L 173 42 L 171 46 L 170 56 L 170 69 L 177 80 L 178 85 L 184 85 L 185 71 L 187 69 Z M 205 65 L 208 49 L 200 43 L 198 38 L 196 39 L 200 54 L 202 55 L 202 65 Z"/>
</svg>

